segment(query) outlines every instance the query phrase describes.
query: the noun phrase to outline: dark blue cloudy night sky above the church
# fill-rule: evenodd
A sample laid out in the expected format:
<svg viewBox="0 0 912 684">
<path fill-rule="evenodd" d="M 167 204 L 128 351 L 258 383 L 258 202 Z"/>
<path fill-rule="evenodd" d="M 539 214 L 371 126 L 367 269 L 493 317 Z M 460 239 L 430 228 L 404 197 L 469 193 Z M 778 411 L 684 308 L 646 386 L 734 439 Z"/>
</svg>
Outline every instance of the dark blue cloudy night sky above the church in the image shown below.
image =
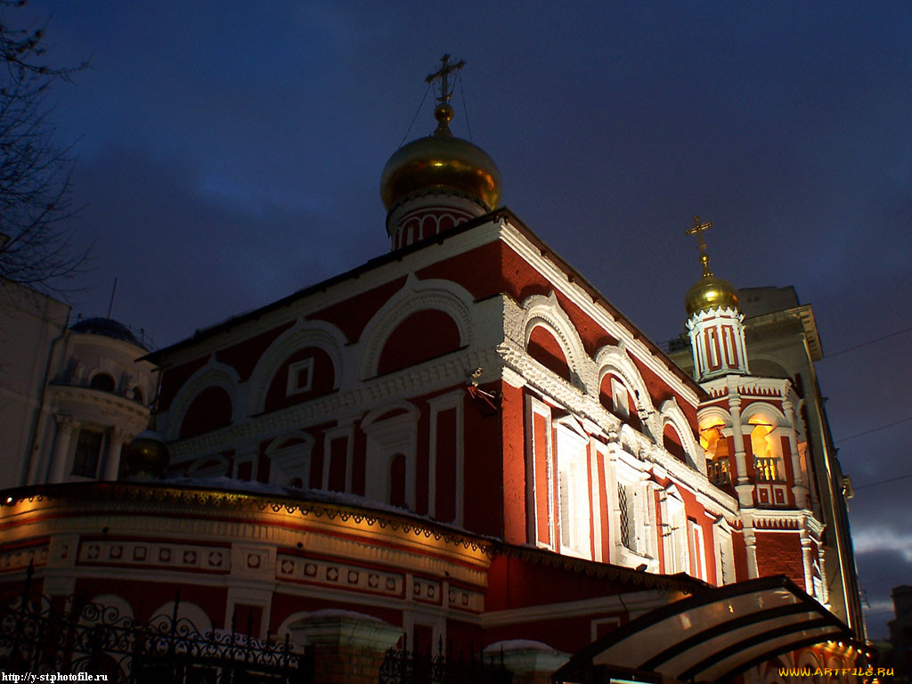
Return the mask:
<svg viewBox="0 0 912 684">
<path fill-rule="evenodd" d="M 912 584 L 910 5 L 27 11 L 51 15 L 57 63 L 91 57 L 49 102 L 95 243 L 70 299 L 104 316 L 119 277 L 113 317 L 158 347 L 388 251 L 380 171 L 444 52 L 467 62 L 452 129 L 470 137 L 467 112 L 503 202 L 659 342 L 700 275 L 684 231 L 711 221 L 716 275 L 814 306 L 868 627 L 886 636 L 890 587 Z M 409 139 L 433 130 L 431 102 Z"/>
</svg>

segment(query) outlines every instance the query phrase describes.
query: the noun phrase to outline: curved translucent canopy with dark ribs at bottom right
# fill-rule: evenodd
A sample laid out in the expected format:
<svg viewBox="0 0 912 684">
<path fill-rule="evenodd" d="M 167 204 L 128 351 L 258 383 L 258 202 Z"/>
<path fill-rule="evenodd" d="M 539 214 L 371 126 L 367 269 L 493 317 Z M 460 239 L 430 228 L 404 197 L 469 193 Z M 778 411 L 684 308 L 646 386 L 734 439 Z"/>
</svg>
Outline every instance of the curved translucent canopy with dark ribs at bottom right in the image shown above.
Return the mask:
<svg viewBox="0 0 912 684">
<path fill-rule="evenodd" d="M 796 648 L 851 639 L 849 627 L 784 575 L 710 588 L 631 620 L 590 644 L 553 681 L 730 679 Z"/>
</svg>

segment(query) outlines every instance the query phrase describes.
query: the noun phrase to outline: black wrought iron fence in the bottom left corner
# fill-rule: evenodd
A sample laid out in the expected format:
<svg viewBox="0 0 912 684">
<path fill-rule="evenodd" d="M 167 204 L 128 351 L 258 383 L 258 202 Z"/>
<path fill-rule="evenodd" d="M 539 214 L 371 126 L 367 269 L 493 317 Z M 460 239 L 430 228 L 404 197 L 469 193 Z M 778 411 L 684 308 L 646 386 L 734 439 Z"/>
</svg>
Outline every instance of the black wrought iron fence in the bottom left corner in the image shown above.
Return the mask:
<svg viewBox="0 0 912 684">
<path fill-rule="evenodd" d="M 33 591 L 29 565 L 22 593 L 0 604 L 0 670 L 42 675 L 104 674 L 119 684 L 312 684 L 309 654 L 295 652 L 286 636 L 275 640 L 231 630 L 201 633 L 171 615 L 147 623 L 119 615 L 117 608 L 78 595 L 52 601 Z M 247 625 L 247 634 L 251 633 Z"/>
</svg>

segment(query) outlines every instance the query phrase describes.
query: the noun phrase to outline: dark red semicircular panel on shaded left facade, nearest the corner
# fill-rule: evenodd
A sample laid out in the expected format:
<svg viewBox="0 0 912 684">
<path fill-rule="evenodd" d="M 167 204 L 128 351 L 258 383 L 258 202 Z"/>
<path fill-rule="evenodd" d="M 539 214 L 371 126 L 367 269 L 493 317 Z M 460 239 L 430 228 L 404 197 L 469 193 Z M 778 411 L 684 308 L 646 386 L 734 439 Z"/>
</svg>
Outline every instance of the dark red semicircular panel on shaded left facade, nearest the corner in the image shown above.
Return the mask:
<svg viewBox="0 0 912 684">
<path fill-rule="evenodd" d="M 437 309 L 412 314 L 393 330 L 380 353 L 377 374 L 392 373 L 460 348 L 459 328 Z"/>
</svg>

